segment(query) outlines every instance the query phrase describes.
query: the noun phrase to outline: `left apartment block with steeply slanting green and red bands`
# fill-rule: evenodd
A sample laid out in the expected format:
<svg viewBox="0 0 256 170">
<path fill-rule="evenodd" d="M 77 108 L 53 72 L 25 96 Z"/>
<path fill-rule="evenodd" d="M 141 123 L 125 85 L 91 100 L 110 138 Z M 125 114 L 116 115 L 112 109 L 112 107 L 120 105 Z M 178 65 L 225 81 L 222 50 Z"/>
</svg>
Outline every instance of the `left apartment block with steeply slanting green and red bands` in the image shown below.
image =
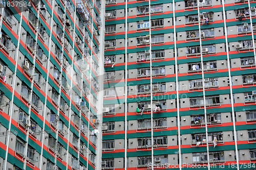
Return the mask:
<svg viewBox="0 0 256 170">
<path fill-rule="evenodd" d="M 0 169 L 101 168 L 101 8 L 1 1 Z"/>
</svg>

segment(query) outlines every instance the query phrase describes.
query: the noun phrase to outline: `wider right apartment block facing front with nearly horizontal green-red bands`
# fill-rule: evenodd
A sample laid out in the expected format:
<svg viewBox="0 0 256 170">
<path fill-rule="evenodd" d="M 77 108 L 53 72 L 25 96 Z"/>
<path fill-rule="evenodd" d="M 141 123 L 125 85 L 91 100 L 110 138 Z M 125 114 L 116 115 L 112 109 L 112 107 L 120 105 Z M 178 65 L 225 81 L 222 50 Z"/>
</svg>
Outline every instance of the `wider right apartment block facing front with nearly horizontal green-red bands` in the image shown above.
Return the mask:
<svg viewBox="0 0 256 170">
<path fill-rule="evenodd" d="M 106 0 L 101 169 L 255 169 L 255 6 Z"/>
</svg>

